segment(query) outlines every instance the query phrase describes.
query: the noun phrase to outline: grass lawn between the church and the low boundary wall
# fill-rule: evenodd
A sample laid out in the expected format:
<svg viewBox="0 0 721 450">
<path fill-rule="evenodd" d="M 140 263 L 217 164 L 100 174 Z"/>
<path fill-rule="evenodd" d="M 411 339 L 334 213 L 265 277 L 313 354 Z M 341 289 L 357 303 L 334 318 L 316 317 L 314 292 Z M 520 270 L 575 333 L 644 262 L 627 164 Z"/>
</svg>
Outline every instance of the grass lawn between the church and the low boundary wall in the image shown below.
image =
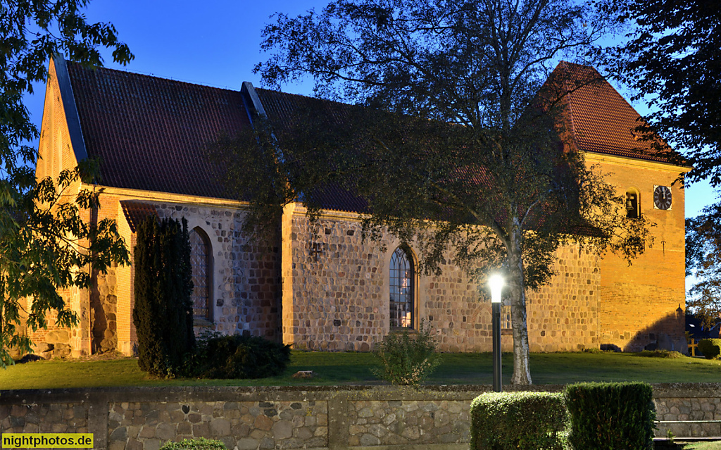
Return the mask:
<svg viewBox="0 0 721 450">
<path fill-rule="evenodd" d="M 443 353 L 429 384 L 491 384 L 490 353 Z M 510 382 L 513 356 L 503 355 L 504 384 Z M 371 353 L 294 351 L 286 374 L 256 380 L 151 379 L 133 358 L 101 361 L 37 361 L 0 370 L 0 389 L 114 386 L 266 386 L 296 384 L 382 384 L 372 369 Z M 318 379 L 296 380 L 296 371 L 312 370 Z M 629 353 L 534 353 L 534 384 L 575 381 L 718 382 L 721 361 L 699 358 L 642 358 Z M 705 450 L 705 449 L 704 449 Z M 721 450 L 721 449 L 720 449 Z"/>
</svg>

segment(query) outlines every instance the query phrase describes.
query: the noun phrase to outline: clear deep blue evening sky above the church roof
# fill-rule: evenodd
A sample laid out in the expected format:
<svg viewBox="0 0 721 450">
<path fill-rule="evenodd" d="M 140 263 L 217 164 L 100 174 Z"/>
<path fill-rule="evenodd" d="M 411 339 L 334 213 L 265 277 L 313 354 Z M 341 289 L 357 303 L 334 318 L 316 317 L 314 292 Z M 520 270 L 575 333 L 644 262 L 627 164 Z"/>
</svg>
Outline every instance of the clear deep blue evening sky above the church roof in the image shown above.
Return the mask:
<svg viewBox="0 0 721 450">
<path fill-rule="evenodd" d="M 94 0 L 87 17 L 93 22 L 112 22 L 136 56 L 123 67 L 113 63 L 107 53 L 106 66 L 239 90 L 243 81 L 261 86 L 252 69 L 265 60 L 260 42 L 270 15 L 283 12 L 293 16 L 311 8 L 320 10 L 325 4 L 326 0 Z M 311 84 L 291 84 L 283 90 L 309 95 Z M 38 126 L 44 95 L 45 87 L 40 86 L 28 99 L 32 120 Z M 647 111 L 638 103 L 634 107 L 641 114 Z M 714 193 L 706 183 L 687 188 L 686 216 L 695 216 L 713 201 Z"/>
</svg>

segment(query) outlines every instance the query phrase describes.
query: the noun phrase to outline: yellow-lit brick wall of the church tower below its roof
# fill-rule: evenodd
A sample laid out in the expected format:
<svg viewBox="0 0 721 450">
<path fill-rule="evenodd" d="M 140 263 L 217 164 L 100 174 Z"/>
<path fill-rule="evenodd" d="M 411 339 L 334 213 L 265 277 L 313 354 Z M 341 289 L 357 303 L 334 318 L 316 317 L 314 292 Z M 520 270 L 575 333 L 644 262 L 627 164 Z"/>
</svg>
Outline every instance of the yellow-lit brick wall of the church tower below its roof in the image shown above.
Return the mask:
<svg viewBox="0 0 721 450">
<path fill-rule="evenodd" d="M 639 190 L 642 216 L 655 226 L 653 244 L 632 265 L 612 254 L 601 260 L 600 343 L 634 351 L 663 343 L 666 335 L 675 350 L 685 350 L 684 190 L 671 186 L 681 168 L 616 158 L 601 162 L 601 169 L 619 195 Z M 654 185 L 671 186 L 670 210 L 654 208 Z"/>
</svg>

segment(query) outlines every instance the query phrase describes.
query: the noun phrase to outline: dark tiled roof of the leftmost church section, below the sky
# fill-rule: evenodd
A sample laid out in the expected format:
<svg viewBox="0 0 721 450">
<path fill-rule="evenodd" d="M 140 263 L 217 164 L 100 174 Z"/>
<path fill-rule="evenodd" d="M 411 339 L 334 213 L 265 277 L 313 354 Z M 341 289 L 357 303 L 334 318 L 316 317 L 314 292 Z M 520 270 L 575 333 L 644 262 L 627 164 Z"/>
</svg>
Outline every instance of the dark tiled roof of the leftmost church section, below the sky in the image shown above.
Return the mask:
<svg viewBox="0 0 721 450">
<path fill-rule="evenodd" d="M 223 197 L 203 151 L 249 126 L 240 92 L 67 63 L 100 184 Z"/>
</svg>

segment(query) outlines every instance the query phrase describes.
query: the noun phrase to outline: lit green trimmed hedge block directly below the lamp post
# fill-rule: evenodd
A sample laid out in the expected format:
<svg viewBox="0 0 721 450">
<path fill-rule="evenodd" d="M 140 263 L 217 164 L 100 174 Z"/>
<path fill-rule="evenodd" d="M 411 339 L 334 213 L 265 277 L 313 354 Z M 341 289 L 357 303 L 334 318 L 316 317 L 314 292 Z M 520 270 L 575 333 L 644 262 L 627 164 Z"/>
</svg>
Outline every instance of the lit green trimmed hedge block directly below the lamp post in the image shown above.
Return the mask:
<svg viewBox="0 0 721 450">
<path fill-rule="evenodd" d="M 482 394 L 471 403 L 471 449 L 561 450 L 566 421 L 563 394 Z"/>
</svg>

